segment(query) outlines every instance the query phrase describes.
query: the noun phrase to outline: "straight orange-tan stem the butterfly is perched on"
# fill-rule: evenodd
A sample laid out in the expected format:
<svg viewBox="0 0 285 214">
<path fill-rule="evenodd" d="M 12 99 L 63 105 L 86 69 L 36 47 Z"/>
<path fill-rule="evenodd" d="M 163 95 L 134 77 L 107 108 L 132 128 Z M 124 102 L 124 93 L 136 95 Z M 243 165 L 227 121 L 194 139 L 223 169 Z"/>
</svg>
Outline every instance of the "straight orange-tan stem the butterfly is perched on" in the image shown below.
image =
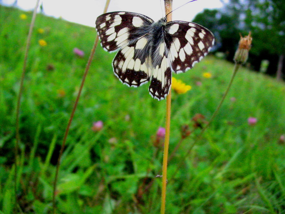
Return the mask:
<svg viewBox="0 0 285 214">
<path fill-rule="evenodd" d="M 164 0 L 165 14 L 172 11 L 172 0 Z M 167 16 L 167 21 L 172 20 L 172 13 Z M 166 177 L 167 177 L 167 156 L 169 146 L 170 135 L 170 109 L 171 109 L 171 88 L 169 88 L 169 94 L 166 97 L 166 127 L 165 127 L 165 140 L 163 151 L 163 163 L 162 163 L 162 190 L 161 190 L 161 207 L 160 213 L 165 213 L 165 198 L 166 198 Z"/>
</svg>

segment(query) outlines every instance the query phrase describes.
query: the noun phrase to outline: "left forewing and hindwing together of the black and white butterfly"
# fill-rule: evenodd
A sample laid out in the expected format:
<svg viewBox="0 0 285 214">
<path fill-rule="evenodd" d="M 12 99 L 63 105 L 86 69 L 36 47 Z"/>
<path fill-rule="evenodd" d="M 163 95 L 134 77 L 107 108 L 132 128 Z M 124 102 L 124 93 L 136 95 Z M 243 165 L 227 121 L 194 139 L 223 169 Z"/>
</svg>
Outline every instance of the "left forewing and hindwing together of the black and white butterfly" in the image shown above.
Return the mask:
<svg viewBox="0 0 285 214">
<path fill-rule="evenodd" d="M 113 69 L 119 80 L 138 87 L 150 79 L 149 38 L 146 35 L 154 21 L 131 12 L 111 12 L 96 19 L 96 29 L 105 51 L 120 49 L 113 60 Z"/>
</svg>

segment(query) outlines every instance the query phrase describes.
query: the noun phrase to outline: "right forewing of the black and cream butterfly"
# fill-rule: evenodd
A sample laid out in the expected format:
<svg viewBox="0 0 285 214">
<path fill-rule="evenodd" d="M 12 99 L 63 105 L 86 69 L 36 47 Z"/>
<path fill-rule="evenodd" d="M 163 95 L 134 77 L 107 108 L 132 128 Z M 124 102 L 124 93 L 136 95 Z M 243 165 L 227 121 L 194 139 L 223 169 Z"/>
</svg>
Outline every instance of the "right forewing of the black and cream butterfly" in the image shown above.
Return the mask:
<svg viewBox="0 0 285 214">
<path fill-rule="evenodd" d="M 192 22 L 171 21 L 165 26 L 164 40 L 175 73 L 185 72 L 209 53 L 214 35 Z"/>
</svg>

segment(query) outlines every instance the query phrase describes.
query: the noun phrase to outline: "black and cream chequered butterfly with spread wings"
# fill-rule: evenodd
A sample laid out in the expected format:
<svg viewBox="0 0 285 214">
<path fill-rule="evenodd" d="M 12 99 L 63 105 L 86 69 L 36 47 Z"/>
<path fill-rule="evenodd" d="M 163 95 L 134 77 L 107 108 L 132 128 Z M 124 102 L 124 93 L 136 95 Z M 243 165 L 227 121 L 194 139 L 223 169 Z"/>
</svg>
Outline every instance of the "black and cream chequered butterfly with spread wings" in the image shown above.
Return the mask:
<svg viewBox="0 0 285 214">
<path fill-rule="evenodd" d="M 119 80 L 138 87 L 150 81 L 149 93 L 163 100 L 171 87 L 172 72 L 192 68 L 214 45 L 211 31 L 192 22 L 154 22 L 149 17 L 125 11 L 104 13 L 96 30 L 105 51 L 118 51 L 113 71 Z"/>
</svg>

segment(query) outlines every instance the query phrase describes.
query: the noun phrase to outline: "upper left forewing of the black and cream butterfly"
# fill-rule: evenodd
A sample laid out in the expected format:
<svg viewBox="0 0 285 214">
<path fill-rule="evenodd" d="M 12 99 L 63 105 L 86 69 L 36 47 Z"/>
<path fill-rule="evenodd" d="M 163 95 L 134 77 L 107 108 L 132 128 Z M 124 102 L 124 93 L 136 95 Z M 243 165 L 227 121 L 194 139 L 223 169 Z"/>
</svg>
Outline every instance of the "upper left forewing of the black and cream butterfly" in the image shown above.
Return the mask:
<svg viewBox="0 0 285 214">
<path fill-rule="evenodd" d="M 116 51 L 135 42 L 154 21 L 139 13 L 125 11 L 104 13 L 96 19 L 96 30 L 105 51 Z"/>
</svg>

